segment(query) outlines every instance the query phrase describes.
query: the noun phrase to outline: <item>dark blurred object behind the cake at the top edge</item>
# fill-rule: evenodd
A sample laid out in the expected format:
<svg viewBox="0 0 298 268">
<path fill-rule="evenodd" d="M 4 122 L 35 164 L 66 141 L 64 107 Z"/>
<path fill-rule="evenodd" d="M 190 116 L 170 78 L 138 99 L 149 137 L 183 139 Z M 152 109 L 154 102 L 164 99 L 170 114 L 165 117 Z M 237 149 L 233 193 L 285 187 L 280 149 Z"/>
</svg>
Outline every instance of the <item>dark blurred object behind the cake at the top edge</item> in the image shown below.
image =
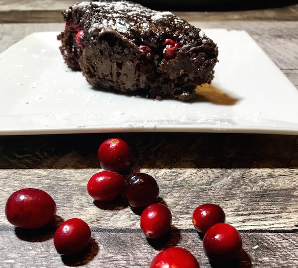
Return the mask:
<svg viewBox="0 0 298 268">
<path fill-rule="evenodd" d="M 157 10 L 219 11 L 282 7 L 298 0 L 134 0 Z"/>
</svg>

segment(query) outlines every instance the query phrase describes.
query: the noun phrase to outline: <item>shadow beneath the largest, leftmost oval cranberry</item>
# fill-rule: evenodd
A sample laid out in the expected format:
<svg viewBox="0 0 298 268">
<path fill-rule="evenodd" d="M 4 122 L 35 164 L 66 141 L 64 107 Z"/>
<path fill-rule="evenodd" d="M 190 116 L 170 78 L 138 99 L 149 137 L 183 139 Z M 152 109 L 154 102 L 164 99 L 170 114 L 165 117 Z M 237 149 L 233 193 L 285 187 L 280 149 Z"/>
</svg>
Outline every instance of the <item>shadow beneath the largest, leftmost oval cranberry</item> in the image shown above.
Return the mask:
<svg viewBox="0 0 298 268">
<path fill-rule="evenodd" d="M 15 227 L 14 231 L 15 235 L 23 241 L 43 242 L 54 237 L 56 229 L 63 221 L 64 220 L 60 216 L 55 215 L 54 219 L 44 227 L 37 229 L 24 229 Z"/>
</svg>

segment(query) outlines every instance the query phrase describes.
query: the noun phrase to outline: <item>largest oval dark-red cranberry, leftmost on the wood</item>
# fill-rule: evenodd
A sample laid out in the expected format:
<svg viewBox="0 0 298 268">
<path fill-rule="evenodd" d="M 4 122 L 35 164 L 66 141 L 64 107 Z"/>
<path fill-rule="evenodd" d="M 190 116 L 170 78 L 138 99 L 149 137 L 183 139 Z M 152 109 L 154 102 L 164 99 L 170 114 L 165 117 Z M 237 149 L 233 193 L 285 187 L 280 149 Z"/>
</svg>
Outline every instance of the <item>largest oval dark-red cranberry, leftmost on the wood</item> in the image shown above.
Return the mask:
<svg viewBox="0 0 298 268">
<path fill-rule="evenodd" d="M 56 203 L 46 192 L 25 188 L 7 200 L 5 215 L 16 227 L 33 229 L 47 225 L 56 214 Z"/>
</svg>

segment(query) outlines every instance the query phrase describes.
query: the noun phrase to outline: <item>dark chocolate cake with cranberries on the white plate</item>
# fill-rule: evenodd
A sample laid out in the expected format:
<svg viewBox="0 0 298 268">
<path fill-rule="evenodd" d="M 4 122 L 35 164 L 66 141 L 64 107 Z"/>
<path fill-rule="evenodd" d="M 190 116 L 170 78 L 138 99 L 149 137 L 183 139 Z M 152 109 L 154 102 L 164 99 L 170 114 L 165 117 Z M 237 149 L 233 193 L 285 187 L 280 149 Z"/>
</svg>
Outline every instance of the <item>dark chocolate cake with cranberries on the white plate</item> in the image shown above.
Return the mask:
<svg viewBox="0 0 298 268">
<path fill-rule="evenodd" d="M 95 87 L 188 100 L 197 85 L 214 77 L 217 45 L 171 12 L 102 0 L 76 3 L 62 13 L 61 53 Z"/>
</svg>

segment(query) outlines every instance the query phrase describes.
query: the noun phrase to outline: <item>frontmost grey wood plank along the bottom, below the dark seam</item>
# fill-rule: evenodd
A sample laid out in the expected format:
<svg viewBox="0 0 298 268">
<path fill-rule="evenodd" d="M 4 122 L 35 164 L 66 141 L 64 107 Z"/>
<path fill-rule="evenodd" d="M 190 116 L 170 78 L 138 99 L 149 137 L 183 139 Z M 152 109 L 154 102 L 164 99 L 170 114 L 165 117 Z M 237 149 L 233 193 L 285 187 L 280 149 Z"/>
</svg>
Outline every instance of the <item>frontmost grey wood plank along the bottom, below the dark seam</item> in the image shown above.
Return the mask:
<svg viewBox="0 0 298 268">
<path fill-rule="evenodd" d="M 90 246 L 75 257 L 61 257 L 53 245 L 53 231 L 30 235 L 28 232 L 0 231 L 0 266 L 26 267 L 130 267 L 148 268 L 158 252 L 170 246 L 188 249 L 197 258 L 201 268 L 215 268 L 206 258 L 202 241 L 195 232 L 175 230 L 167 239 L 149 242 L 140 232 L 123 230 L 92 230 Z M 32 238 L 33 236 L 33 238 Z M 298 234 L 241 233 L 243 252 L 229 268 L 289 268 L 298 265 Z"/>
</svg>

